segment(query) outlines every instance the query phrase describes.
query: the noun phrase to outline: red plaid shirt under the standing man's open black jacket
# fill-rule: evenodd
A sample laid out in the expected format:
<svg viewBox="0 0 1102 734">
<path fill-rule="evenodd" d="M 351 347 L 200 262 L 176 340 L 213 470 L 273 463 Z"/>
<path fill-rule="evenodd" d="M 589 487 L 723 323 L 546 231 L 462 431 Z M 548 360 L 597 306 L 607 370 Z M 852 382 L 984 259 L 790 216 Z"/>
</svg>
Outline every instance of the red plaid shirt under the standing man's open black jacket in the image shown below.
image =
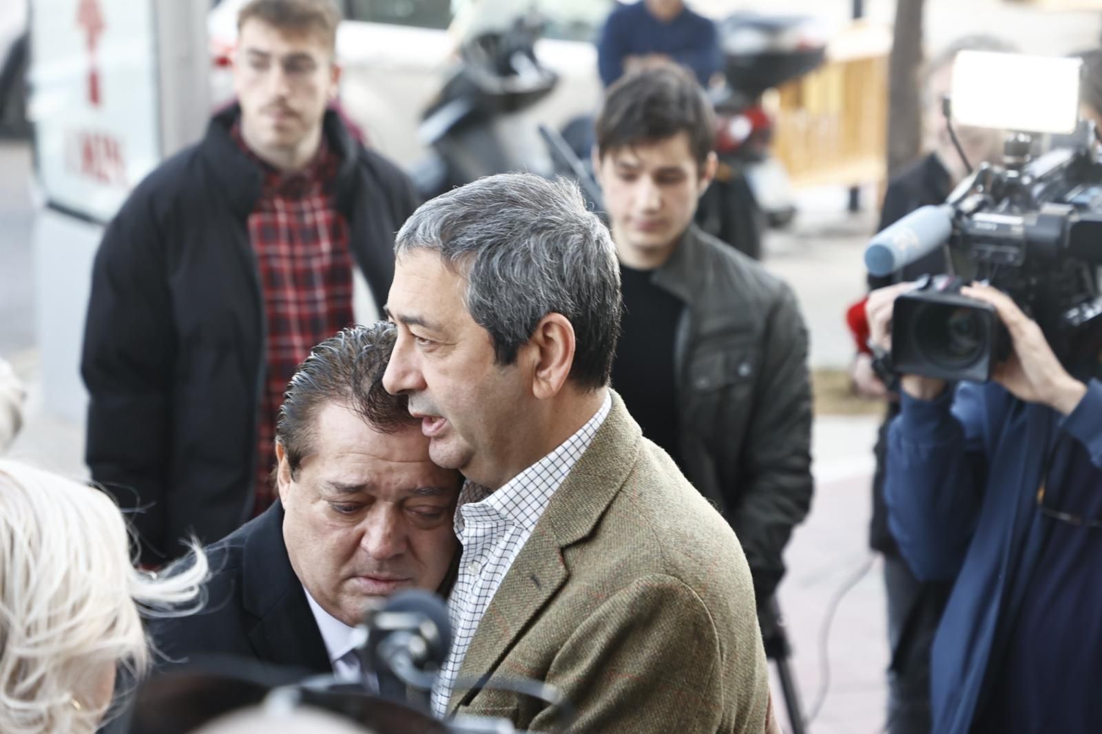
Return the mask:
<svg viewBox="0 0 1102 734">
<path fill-rule="evenodd" d="M 285 174 L 256 158 L 240 129 L 234 138 L 263 170 L 263 188 L 249 215 L 249 240 L 260 270 L 268 320 L 264 389 L 257 422 L 253 515 L 276 498 L 276 421 L 288 382 L 315 344 L 353 323 L 353 257 L 348 223 L 336 211 L 341 160 L 325 140 L 303 171 Z"/>
</svg>

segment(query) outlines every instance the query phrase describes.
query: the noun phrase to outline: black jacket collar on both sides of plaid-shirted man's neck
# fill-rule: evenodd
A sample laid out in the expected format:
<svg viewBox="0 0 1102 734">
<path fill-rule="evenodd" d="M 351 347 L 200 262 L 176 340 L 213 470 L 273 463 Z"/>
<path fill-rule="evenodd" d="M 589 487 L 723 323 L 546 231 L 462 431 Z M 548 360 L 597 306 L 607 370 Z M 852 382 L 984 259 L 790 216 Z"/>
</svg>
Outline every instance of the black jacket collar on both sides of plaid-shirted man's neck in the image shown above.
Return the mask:
<svg viewBox="0 0 1102 734">
<path fill-rule="evenodd" d="M 222 188 L 220 195 L 229 207 L 238 217 L 247 217 L 260 197 L 263 173 L 241 150 L 230 132 L 240 117 L 241 108 L 237 102 L 216 112 L 199 143 L 199 154 Z M 347 217 L 356 194 L 354 184 L 359 143 L 333 109 L 325 110 L 322 134 L 341 160 L 334 191 L 337 209 Z"/>
</svg>

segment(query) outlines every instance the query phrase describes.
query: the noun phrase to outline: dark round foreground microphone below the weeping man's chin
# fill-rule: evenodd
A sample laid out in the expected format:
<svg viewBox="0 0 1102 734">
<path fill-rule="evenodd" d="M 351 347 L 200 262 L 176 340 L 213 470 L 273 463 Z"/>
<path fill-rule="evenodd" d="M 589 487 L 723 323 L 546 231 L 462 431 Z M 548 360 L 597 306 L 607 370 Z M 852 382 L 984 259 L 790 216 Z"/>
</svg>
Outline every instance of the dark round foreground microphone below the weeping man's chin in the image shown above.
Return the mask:
<svg viewBox="0 0 1102 734">
<path fill-rule="evenodd" d="M 429 691 L 452 647 L 447 606 L 435 594 L 409 589 L 389 596 L 364 620 L 367 641 L 360 649 L 366 671 L 378 678 L 379 694 L 406 702 L 407 687 Z M 419 695 L 425 704 L 425 697 Z"/>
</svg>

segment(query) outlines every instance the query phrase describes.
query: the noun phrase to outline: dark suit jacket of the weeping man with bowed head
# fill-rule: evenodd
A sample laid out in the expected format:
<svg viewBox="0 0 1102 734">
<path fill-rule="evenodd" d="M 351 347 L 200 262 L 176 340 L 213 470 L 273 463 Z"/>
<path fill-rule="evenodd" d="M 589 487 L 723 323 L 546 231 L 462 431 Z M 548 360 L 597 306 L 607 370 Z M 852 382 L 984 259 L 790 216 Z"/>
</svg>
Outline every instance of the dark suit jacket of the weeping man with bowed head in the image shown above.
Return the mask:
<svg viewBox="0 0 1102 734">
<path fill-rule="evenodd" d="M 279 503 L 207 549 L 212 578 L 196 614 L 150 624 L 160 668 L 238 656 L 331 673 L 329 656 L 291 568 Z"/>
</svg>

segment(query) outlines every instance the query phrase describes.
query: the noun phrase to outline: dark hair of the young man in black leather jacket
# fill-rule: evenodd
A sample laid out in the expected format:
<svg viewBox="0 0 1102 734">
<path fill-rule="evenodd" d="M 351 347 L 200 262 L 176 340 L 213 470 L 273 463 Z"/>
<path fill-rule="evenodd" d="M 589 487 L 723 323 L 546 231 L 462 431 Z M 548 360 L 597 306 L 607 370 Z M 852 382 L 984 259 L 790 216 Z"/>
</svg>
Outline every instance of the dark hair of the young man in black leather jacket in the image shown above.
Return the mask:
<svg viewBox="0 0 1102 734">
<path fill-rule="evenodd" d="M 688 69 L 659 64 L 622 76 L 605 93 L 596 121 L 597 153 L 653 143 L 685 132 L 703 168 L 715 140 L 715 112 Z"/>
</svg>

